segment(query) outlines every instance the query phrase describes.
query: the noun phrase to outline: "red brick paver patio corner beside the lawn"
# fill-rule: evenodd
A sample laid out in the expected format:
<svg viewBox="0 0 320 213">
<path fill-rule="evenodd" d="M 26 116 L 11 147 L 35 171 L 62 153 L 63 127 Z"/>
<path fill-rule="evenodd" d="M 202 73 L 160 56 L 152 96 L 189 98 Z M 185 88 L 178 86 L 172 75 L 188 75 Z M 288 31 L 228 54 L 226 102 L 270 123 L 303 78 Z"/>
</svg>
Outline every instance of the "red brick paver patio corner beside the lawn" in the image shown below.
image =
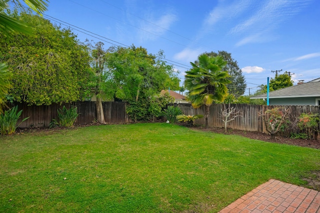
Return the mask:
<svg viewBox="0 0 320 213">
<path fill-rule="evenodd" d="M 271 179 L 219 213 L 233 212 L 320 213 L 320 192 Z"/>
</svg>

